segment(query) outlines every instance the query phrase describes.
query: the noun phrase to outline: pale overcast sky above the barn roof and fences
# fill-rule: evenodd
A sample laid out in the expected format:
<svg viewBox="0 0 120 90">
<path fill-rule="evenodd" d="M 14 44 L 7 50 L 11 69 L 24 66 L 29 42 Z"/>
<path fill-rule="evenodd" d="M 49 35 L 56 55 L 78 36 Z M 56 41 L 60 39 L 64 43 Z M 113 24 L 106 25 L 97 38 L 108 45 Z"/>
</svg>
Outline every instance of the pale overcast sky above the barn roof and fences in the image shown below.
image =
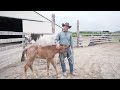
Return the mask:
<svg viewBox="0 0 120 90">
<path fill-rule="evenodd" d="M 79 20 L 80 31 L 104 31 L 111 32 L 120 30 L 120 11 L 37 11 L 51 20 L 55 14 L 55 22 L 58 25 L 68 22 L 77 31 L 77 20 Z"/>
</svg>

